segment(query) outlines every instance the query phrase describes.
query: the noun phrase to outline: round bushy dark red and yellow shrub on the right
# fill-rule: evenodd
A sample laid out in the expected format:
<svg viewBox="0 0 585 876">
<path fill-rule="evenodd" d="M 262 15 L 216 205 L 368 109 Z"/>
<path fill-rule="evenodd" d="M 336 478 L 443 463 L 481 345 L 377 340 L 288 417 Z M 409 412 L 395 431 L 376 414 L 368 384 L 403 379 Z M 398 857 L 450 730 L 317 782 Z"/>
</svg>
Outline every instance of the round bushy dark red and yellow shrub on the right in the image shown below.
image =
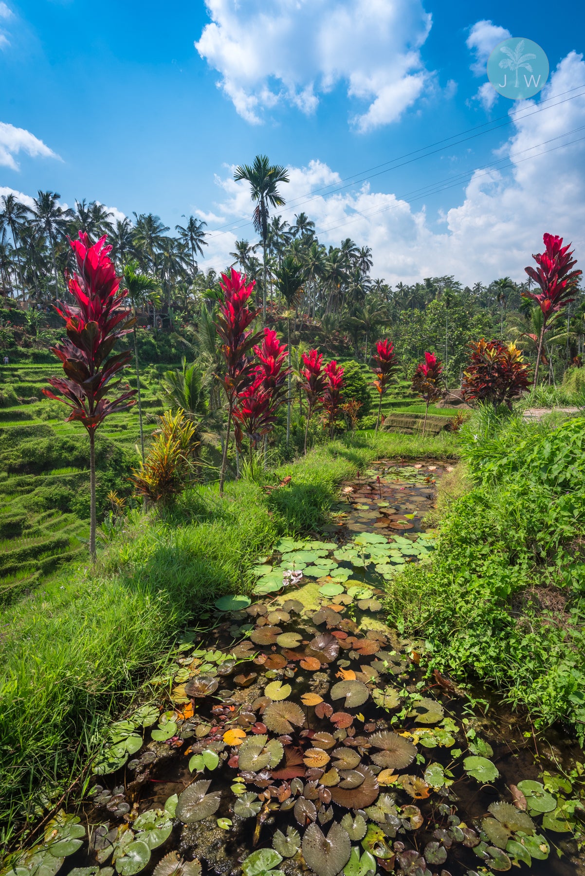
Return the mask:
<svg viewBox="0 0 585 876">
<path fill-rule="evenodd" d="M 470 343 L 469 365 L 463 371 L 463 398 L 483 401 L 495 409 L 501 404 L 511 408 L 512 399 L 528 386 L 528 364 L 514 343 L 479 341 Z"/>
</svg>

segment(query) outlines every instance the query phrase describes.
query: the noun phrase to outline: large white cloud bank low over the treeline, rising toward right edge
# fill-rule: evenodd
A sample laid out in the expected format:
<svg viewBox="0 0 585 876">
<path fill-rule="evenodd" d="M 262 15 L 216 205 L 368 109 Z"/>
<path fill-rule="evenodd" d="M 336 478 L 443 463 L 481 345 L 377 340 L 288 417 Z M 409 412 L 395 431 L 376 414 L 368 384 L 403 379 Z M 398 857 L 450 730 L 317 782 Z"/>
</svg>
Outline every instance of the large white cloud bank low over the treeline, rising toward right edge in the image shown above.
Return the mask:
<svg viewBox="0 0 585 876">
<path fill-rule="evenodd" d="M 585 64 L 582 55 L 572 52 L 554 71 L 542 98 L 580 83 L 585 86 Z M 520 109 L 523 117 L 514 122 L 511 138 L 496 152 L 497 158 L 510 159 L 511 169 L 476 171 L 460 206 L 444 216 L 428 216 L 421 201 L 409 204 L 397 194 L 372 192 L 367 184 L 359 191 L 317 193 L 321 187 L 341 182 L 335 171 L 319 161 L 289 168 L 291 181 L 283 187 L 287 207 L 282 215 L 293 222 L 293 215 L 305 210 L 316 223 L 322 243 L 339 245 L 349 236 L 360 246 L 370 246 L 373 275 L 392 284 L 442 274 L 455 274 L 469 285 L 506 275 L 525 279 L 525 265 L 531 263 L 532 252 L 541 250 L 545 231 L 572 241 L 582 266 L 585 140 L 570 145 L 582 137 L 582 131 L 553 138 L 585 125 L 585 96 L 528 115 L 538 106 L 538 102 L 526 101 L 513 108 L 516 114 Z M 533 149 L 537 144 L 546 145 Z M 436 180 L 442 179 L 438 172 Z M 224 197 L 216 211 L 245 223 L 252 210 L 246 183 L 234 182 L 232 173 L 217 181 Z M 311 192 L 315 194 L 307 194 Z M 442 221 L 444 230 L 435 230 L 434 219 Z M 208 258 L 202 264 L 215 269 L 228 265 L 236 237 L 256 240 L 250 224 L 209 237 Z"/>
</svg>

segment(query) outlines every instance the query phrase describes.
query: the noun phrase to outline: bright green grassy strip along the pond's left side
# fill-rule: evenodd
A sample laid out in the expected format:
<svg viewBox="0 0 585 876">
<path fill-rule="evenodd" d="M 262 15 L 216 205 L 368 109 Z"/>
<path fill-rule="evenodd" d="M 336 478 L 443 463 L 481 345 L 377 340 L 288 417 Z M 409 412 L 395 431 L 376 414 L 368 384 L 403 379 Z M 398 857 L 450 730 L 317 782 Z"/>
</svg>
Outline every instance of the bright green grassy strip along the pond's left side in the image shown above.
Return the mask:
<svg viewBox="0 0 585 876">
<path fill-rule="evenodd" d="M 249 481 L 189 491 L 166 519 L 140 518 L 95 570 L 57 576 L 0 618 L 0 817 L 6 836 L 55 801 L 111 713 L 123 710 L 201 606 L 244 590 L 248 569 L 287 533 L 319 526 L 335 486 L 377 456 L 446 456 L 452 439 L 357 434 Z"/>
</svg>

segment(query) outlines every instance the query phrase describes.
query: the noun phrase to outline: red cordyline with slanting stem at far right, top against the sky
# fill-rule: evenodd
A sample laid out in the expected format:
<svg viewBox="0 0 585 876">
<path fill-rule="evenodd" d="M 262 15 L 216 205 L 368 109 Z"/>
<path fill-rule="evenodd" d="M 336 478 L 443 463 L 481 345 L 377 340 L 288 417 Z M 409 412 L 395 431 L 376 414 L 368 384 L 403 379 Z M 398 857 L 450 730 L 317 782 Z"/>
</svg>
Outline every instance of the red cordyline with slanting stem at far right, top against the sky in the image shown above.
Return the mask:
<svg viewBox="0 0 585 876">
<path fill-rule="evenodd" d="M 574 290 L 581 277 L 582 271 L 571 270 L 577 264 L 576 258 L 571 258 L 573 251 L 568 251 L 571 244 L 562 245 L 562 237 L 553 234 L 545 234 L 542 237 L 545 251 L 532 258 L 539 265 L 534 269 L 532 265 L 525 267 L 525 272 L 540 287 L 540 292 L 523 292 L 525 298 L 536 301 L 542 311 L 542 327 L 539 336 L 539 350 L 534 368 L 534 387 L 539 379 L 539 364 L 542 347 L 545 342 L 546 323 L 553 314 L 556 314 L 574 301 Z M 538 311 L 537 311 L 538 312 Z"/>
</svg>

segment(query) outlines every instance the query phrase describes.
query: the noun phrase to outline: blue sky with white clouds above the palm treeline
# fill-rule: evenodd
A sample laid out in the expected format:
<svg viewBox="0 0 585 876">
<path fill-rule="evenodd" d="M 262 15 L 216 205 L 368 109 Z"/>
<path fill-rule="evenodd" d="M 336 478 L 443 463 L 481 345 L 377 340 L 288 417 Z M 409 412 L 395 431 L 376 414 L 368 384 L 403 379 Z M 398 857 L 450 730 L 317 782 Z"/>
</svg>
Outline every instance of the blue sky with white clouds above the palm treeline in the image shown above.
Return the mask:
<svg viewBox="0 0 585 876">
<path fill-rule="evenodd" d="M 208 263 L 221 267 L 236 237 L 253 237 L 229 168 L 266 152 L 291 168 L 283 194 L 297 206 L 285 215 L 305 209 L 323 240 L 370 245 L 375 275 L 518 274 L 545 230 L 585 244 L 585 132 L 568 133 L 585 124 L 585 97 L 550 106 L 552 96 L 530 118 L 546 95 L 585 93 L 575 91 L 585 86 L 585 10 L 563 13 L 556 20 L 540 0 L 4 0 L 0 194 L 51 189 L 67 204 L 152 211 L 172 227 L 197 213 L 224 232 L 209 246 Z M 539 43 L 552 71 L 525 120 L 307 201 L 315 188 L 505 117 L 512 102 L 480 89 L 485 53 L 508 34 Z M 519 152 L 529 160 L 516 165 Z M 497 177 L 471 179 L 509 155 Z M 518 200 L 524 212 L 511 217 Z"/>
</svg>

